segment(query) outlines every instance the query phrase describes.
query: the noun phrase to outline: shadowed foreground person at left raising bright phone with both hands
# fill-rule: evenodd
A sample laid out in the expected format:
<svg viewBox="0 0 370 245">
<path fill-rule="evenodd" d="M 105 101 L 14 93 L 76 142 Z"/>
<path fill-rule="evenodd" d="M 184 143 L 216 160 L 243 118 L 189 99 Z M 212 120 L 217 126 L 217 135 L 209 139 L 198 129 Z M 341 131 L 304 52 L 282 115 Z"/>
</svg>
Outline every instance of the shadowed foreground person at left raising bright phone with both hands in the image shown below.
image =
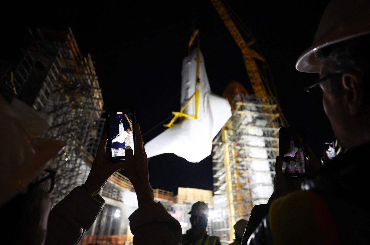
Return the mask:
<svg viewBox="0 0 370 245">
<path fill-rule="evenodd" d="M 64 142 L 37 138 L 44 129 L 34 132 L 40 127 L 23 124 L 1 96 L 0 115 L 0 217 L 6 224 L 1 244 L 78 244 L 105 205 L 99 191 L 121 169 L 126 169 L 138 199 L 139 208 L 129 217 L 134 244 L 181 244 L 179 222 L 154 201 L 138 123 L 135 155 L 126 148 L 126 161 L 112 164 L 105 154 L 105 134 L 85 183 L 50 211 L 48 193 L 56 173 L 46 168 L 62 152 Z"/>
</svg>

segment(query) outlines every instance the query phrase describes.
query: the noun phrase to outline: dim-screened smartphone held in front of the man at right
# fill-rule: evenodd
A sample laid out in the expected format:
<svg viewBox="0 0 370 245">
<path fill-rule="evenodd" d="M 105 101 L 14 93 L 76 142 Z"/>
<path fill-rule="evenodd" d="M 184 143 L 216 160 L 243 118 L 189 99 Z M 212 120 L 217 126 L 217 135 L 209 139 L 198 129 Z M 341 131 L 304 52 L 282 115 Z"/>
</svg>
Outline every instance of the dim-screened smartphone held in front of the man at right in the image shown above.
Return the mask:
<svg viewBox="0 0 370 245">
<path fill-rule="evenodd" d="M 305 177 L 305 130 L 300 127 L 282 127 L 279 130 L 279 154 L 283 173 L 290 177 Z"/>
</svg>

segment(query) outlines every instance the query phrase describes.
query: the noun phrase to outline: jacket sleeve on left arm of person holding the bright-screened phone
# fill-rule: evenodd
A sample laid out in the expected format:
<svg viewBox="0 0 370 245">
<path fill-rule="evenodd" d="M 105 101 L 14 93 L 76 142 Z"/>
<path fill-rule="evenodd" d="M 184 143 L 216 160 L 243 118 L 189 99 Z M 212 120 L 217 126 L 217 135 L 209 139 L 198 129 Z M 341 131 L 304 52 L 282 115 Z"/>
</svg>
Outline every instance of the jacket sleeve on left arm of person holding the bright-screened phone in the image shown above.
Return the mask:
<svg viewBox="0 0 370 245">
<path fill-rule="evenodd" d="M 74 188 L 50 211 L 45 245 L 78 244 L 105 205 L 99 195 L 83 186 Z"/>
</svg>

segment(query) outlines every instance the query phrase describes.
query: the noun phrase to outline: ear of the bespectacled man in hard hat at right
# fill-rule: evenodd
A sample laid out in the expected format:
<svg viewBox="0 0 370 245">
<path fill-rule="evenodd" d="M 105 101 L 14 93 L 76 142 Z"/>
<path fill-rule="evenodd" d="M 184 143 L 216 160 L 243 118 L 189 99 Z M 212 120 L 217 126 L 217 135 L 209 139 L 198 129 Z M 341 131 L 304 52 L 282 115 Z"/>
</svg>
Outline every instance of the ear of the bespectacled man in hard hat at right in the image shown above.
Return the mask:
<svg viewBox="0 0 370 245">
<path fill-rule="evenodd" d="M 364 98 L 363 80 L 354 72 L 342 76 L 343 102 L 351 115 L 357 115 Z"/>
</svg>

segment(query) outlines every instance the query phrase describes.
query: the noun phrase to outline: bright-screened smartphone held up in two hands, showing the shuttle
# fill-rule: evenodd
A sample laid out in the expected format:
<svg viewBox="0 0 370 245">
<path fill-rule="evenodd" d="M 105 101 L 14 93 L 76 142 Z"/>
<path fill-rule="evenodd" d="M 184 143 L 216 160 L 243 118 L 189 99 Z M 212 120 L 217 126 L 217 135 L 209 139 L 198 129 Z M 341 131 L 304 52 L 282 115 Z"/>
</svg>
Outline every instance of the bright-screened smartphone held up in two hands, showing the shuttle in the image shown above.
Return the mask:
<svg viewBox="0 0 370 245">
<path fill-rule="evenodd" d="M 125 149 L 130 146 L 135 153 L 136 123 L 135 110 L 133 109 L 110 109 L 107 110 L 107 150 L 112 163 L 125 161 Z"/>
</svg>

